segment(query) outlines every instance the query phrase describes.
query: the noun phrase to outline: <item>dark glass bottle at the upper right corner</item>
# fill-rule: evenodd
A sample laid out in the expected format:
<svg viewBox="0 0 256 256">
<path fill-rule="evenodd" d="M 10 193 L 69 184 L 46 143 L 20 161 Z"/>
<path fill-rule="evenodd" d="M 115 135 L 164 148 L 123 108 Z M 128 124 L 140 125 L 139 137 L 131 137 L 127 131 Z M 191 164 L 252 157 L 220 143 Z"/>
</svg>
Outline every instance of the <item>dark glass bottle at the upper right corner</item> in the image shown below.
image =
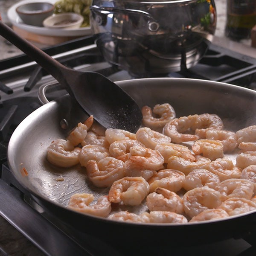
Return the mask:
<svg viewBox="0 0 256 256">
<path fill-rule="evenodd" d="M 250 38 L 255 24 L 256 0 L 227 0 L 227 37 L 235 40 Z"/>
</svg>

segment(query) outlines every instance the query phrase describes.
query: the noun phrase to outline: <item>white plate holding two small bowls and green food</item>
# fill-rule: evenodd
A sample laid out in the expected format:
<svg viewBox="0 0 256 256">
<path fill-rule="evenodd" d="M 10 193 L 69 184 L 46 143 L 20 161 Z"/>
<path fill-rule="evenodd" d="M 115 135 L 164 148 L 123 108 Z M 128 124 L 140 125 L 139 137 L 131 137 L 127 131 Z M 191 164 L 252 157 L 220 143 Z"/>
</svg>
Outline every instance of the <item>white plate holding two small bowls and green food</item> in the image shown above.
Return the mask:
<svg viewBox="0 0 256 256">
<path fill-rule="evenodd" d="M 28 32 L 32 32 L 38 35 L 49 35 L 49 36 L 84 36 L 84 35 L 91 35 L 92 30 L 90 27 L 83 27 L 79 29 L 49 29 L 40 26 L 31 26 L 24 24 L 20 17 L 17 15 L 16 8 L 23 3 L 30 3 L 34 2 L 33 0 L 22 0 L 12 7 L 10 7 L 7 11 L 7 17 L 9 18 L 10 22 L 23 30 Z M 56 0 L 37 0 L 37 2 L 49 2 L 55 3 Z"/>
</svg>

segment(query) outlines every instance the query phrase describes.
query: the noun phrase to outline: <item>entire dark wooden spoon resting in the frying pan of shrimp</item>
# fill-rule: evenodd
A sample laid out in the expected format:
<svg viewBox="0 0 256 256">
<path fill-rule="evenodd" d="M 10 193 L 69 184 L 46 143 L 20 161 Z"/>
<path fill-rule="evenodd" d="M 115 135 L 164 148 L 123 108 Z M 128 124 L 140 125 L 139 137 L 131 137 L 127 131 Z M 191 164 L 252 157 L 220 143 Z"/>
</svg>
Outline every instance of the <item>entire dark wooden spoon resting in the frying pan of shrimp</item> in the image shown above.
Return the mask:
<svg viewBox="0 0 256 256">
<path fill-rule="evenodd" d="M 65 67 L 0 21 L 0 35 L 22 50 L 51 74 L 105 128 L 137 131 L 142 113 L 137 103 L 117 84 L 96 72 Z"/>
</svg>

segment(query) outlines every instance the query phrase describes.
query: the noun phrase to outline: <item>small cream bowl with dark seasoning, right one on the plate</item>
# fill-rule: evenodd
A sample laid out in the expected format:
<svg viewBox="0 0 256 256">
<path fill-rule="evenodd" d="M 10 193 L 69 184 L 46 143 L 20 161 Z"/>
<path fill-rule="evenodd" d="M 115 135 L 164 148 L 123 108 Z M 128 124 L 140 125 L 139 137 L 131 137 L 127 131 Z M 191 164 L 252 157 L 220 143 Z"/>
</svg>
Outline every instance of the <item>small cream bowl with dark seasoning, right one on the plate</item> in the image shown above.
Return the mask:
<svg viewBox="0 0 256 256">
<path fill-rule="evenodd" d="M 46 18 L 43 25 L 54 29 L 78 29 L 84 21 L 84 17 L 74 12 L 52 15 Z"/>
</svg>

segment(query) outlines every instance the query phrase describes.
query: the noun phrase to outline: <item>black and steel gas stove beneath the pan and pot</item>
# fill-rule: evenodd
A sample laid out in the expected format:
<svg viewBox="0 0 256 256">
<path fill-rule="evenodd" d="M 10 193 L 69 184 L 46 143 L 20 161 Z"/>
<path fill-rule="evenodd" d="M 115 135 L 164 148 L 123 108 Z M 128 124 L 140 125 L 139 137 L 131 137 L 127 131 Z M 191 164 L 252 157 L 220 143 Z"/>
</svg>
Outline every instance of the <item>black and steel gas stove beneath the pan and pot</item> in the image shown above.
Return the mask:
<svg viewBox="0 0 256 256">
<path fill-rule="evenodd" d="M 44 51 L 68 67 L 97 71 L 112 81 L 137 78 L 126 70 L 107 63 L 94 44 L 93 37 L 90 36 L 49 47 Z M 0 61 L 0 67 L 0 215 L 49 256 L 65 256 L 71 253 L 73 255 L 169 254 L 168 246 L 158 247 L 157 244 L 152 244 L 150 247 L 135 251 L 129 244 L 120 247 L 114 242 L 109 244 L 97 237 L 81 233 L 42 209 L 26 194 L 12 176 L 7 163 L 9 138 L 17 125 L 43 104 L 38 99 L 40 87 L 56 81 L 26 55 Z M 164 76 L 221 81 L 256 90 L 256 59 L 212 44 L 197 65 Z M 66 93 L 57 86 L 47 90 L 47 99 L 56 99 Z M 254 240 L 252 236 L 248 236 L 246 241 L 241 237 L 234 237 L 210 244 L 182 248 L 177 246 L 172 247 L 172 253 L 216 255 L 221 251 L 223 255 L 255 255 Z"/>
</svg>

